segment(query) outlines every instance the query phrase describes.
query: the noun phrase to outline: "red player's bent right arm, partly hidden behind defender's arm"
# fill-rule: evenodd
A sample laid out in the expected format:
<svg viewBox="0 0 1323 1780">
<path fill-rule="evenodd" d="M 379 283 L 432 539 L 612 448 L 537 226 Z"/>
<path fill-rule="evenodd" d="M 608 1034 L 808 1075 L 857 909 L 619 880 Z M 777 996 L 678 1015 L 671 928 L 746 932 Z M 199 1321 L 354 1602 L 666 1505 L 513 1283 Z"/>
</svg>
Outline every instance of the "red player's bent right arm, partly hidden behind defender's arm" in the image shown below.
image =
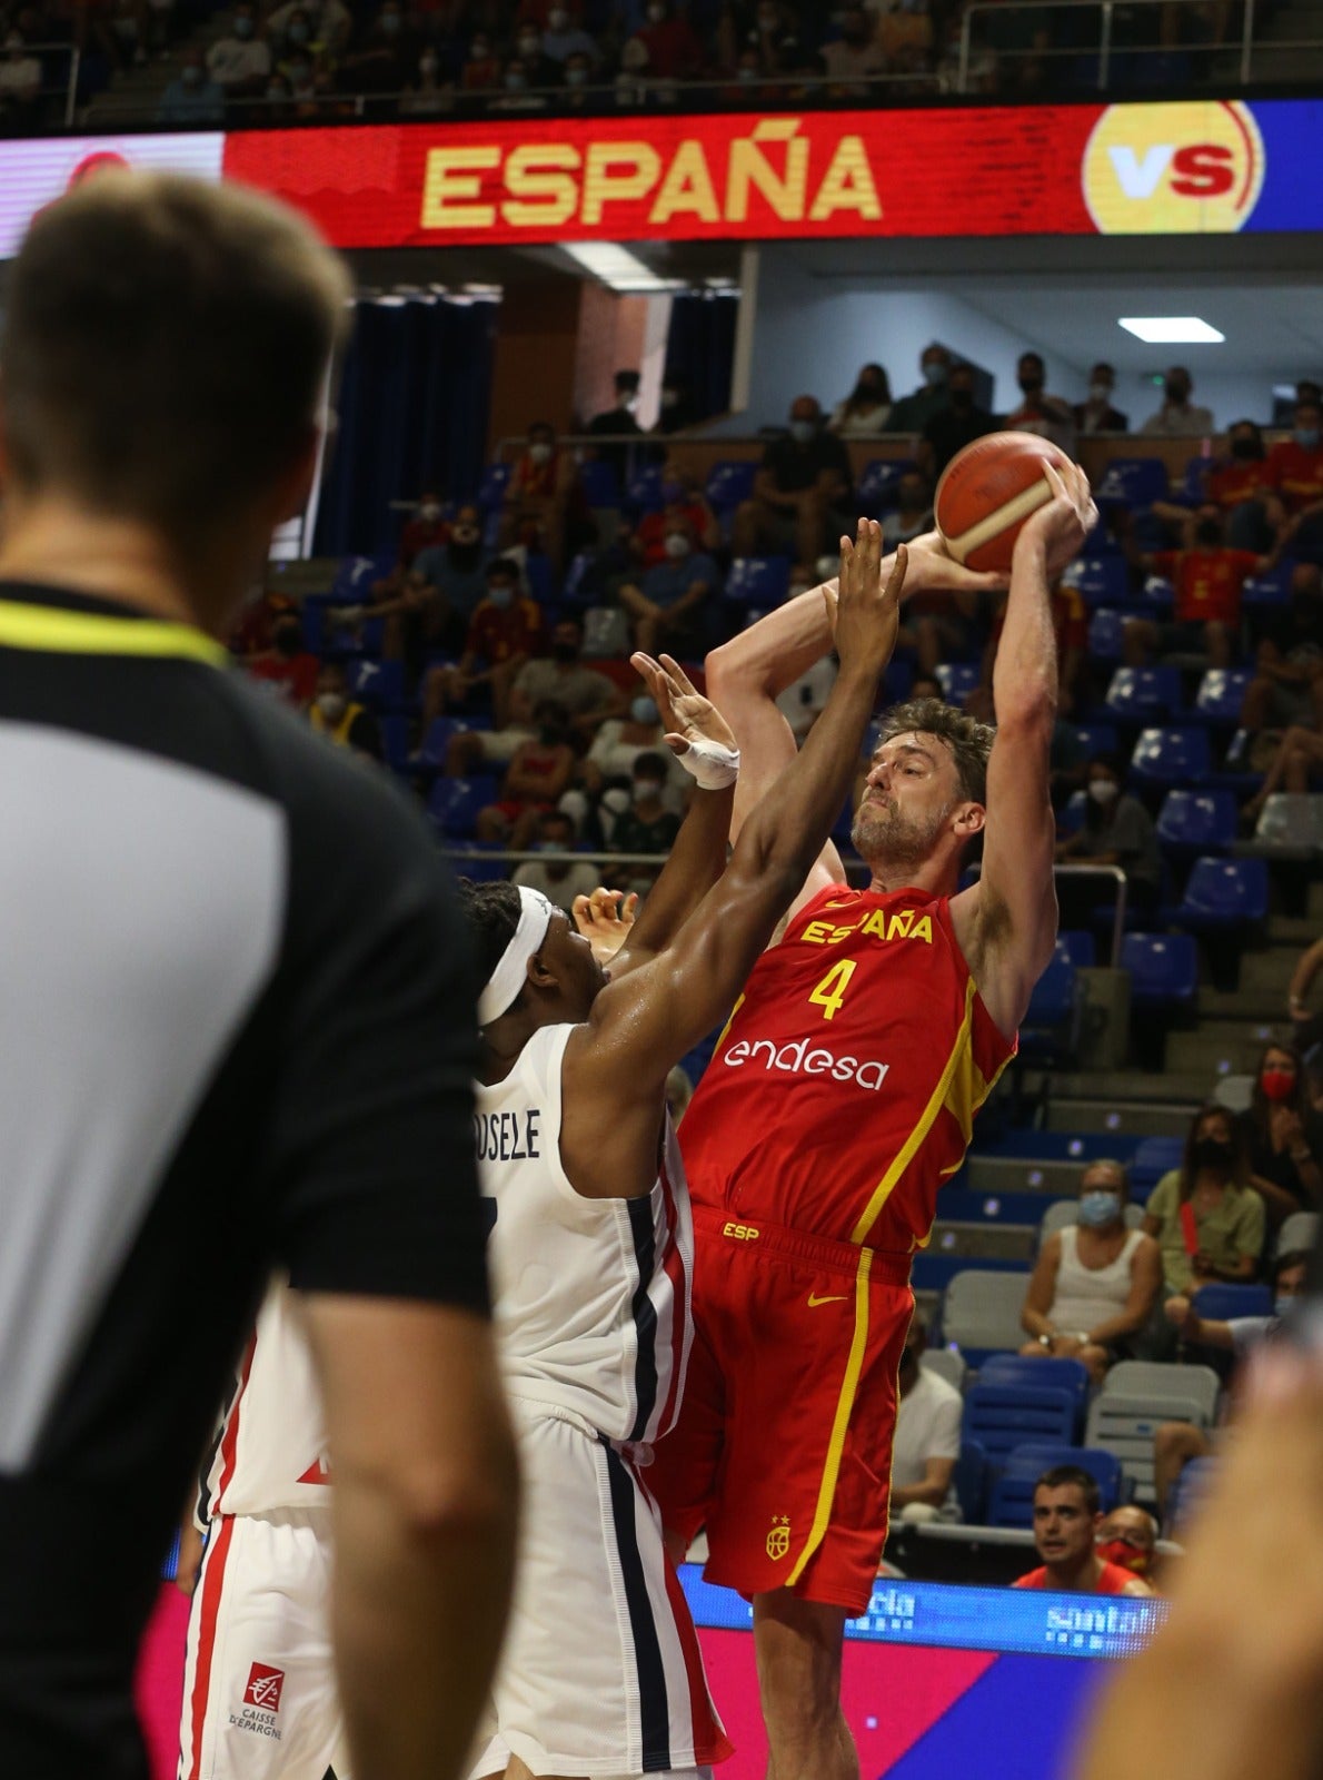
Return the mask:
<svg viewBox="0 0 1323 1780">
<path fill-rule="evenodd" d="M 878 573 L 886 584 L 896 566 L 896 557 L 886 557 Z M 749 630 L 731 637 L 713 650 L 706 662 L 708 696 L 717 703 L 734 730 L 740 744 L 740 783 L 734 790 L 734 819 L 731 838 L 750 810 L 766 796 L 777 774 L 795 758 L 795 735 L 777 707 L 777 696 L 793 685 L 816 660 L 832 648 L 829 605 L 823 591 L 836 584 L 825 582 L 788 600 L 761 618 Z M 905 596 L 935 587 L 953 593 L 978 593 L 1003 587 L 1001 575 L 978 575 L 946 555 L 937 532 L 916 538 L 909 546 Z M 836 847 L 827 840 L 816 863 L 806 874 L 806 901 L 829 883 L 841 883 L 843 870 Z"/>
</svg>

